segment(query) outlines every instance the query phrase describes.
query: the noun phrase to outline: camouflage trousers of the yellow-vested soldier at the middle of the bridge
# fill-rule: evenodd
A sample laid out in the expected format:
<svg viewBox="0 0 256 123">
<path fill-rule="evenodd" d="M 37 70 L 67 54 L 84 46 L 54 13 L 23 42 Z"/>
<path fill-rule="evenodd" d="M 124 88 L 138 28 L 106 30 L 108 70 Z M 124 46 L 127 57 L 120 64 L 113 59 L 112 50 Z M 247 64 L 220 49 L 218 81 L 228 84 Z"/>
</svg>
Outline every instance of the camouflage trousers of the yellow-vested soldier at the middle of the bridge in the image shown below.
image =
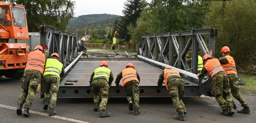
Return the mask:
<svg viewBox="0 0 256 123">
<path fill-rule="evenodd" d="M 101 102 L 99 104 L 100 111 L 106 110 L 107 100 L 108 100 L 108 82 L 104 78 L 94 79 L 92 82 L 92 90 L 94 92 L 94 103 L 99 102 L 99 95 L 101 97 Z"/>
</svg>

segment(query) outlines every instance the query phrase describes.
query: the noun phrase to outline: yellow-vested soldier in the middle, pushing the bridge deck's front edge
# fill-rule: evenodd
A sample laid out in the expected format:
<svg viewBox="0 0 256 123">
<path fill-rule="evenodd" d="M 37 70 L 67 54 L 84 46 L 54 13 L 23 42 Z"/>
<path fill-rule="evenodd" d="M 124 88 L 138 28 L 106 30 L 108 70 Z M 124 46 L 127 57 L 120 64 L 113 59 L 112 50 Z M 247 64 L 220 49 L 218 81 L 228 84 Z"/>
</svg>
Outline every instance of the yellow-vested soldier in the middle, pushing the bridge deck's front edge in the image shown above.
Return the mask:
<svg viewBox="0 0 256 123">
<path fill-rule="evenodd" d="M 111 86 L 113 78 L 113 73 L 108 67 L 106 61 L 100 62 L 100 67 L 96 68 L 91 75 L 90 87 L 94 92 L 94 111 L 98 110 L 99 93 L 101 96 L 100 102 L 100 117 L 109 117 L 111 113 L 105 112 L 107 100 L 108 100 L 108 88 Z"/>
</svg>

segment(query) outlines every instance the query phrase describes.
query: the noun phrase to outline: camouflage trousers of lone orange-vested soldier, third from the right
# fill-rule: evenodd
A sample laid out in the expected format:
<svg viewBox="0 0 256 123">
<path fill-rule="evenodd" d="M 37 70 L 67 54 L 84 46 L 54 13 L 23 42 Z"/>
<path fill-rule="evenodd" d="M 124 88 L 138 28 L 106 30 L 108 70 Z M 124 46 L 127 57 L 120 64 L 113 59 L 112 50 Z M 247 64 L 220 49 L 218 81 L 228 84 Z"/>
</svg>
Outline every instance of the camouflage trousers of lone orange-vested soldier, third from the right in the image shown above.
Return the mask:
<svg viewBox="0 0 256 123">
<path fill-rule="evenodd" d="M 167 82 L 167 85 L 176 111 L 178 113 L 184 112 L 183 107 L 185 107 L 185 104 L 182 98 L 184 97 L 185 82 L 179 77 L 172 77 Z"/>
</svg>

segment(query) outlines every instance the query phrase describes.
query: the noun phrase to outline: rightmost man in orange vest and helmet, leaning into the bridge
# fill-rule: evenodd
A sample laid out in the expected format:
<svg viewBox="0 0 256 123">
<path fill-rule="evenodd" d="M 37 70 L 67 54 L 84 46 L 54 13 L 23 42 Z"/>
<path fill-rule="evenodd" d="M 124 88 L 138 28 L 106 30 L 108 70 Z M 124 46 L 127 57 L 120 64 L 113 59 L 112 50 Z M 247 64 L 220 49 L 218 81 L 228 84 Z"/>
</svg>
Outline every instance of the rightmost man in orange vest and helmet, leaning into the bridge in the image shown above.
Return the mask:
<svg viewBox="0 0 256 123">
<path fill-rule="evenodd" d="M 230 53 L 229 47 L 224 46 L 221 52 L 223 57 L 219 58 L 219 61 L 222 64 L 228 76 L 231 94 L 241 103 L 241 106 L 243 107 L 242 110 L 237 110 L 237 112 L 243 113 L 243 114 L 251 114 L 248 103 L 244 100 L 241 93 L 239 92 L 239 87 L 237 85 L 238 77 L 236 72 L 235 61 L 233 57 L 229 56 L 229 53 Z M 212 55 L 212 51 L 210 51 L 209 55 Z M 233 101 L 233 105 L 234 105 L 234 109 L 236 109 L 237 107 L 234 104 L 234 101 Z"/>
</svg>

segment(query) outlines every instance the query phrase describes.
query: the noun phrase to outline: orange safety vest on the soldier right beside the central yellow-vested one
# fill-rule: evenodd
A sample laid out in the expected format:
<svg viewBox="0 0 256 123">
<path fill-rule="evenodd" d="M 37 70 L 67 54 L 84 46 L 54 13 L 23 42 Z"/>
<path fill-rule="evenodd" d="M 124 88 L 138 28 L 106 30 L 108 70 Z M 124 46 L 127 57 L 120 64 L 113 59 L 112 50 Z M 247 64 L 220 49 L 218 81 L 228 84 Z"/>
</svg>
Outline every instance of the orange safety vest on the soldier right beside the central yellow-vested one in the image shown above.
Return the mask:
<svg viewBox="0 0 256 123">
<path fill-rule="evenodd" d="M 139 83 L 139 80 L 137 78 L 136 70 L 133 68 L 125 68 L 122 70 L 122 75 L 123 75 L 123 87 L 125 84 L 129 81 L 136 80 Z"/>
</svg>

